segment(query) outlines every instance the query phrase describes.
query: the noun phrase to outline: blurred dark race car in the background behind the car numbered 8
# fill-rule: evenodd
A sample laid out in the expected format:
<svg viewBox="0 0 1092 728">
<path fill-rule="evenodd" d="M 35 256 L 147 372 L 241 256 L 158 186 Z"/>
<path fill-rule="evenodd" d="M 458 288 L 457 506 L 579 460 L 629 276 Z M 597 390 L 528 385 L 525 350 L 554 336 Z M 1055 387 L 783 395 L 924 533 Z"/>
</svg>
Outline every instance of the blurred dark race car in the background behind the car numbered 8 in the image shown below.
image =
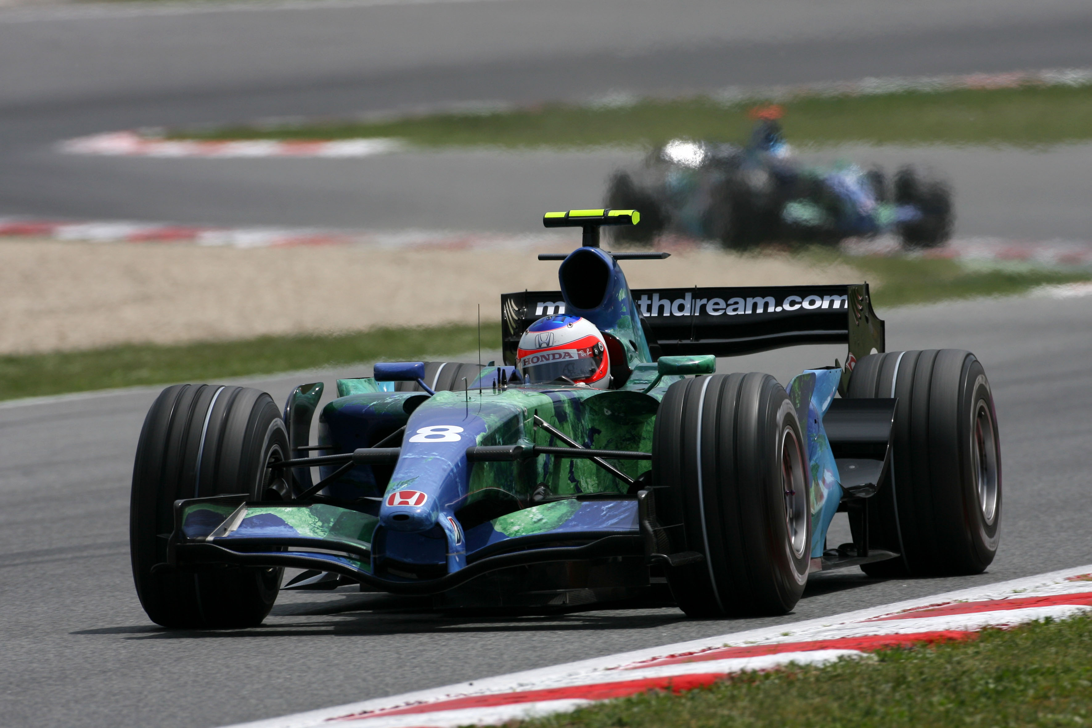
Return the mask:
<svg viewBox="0 0 1092 728">
<path fill-rule="evenodd" d="M 889 184 L 880 169 L 804 166 L 791 157 L 774 118 L 758 122 L 747 146 L 668 142 L 642 169 L 614 175 L 607 204 L 642 211 L 641 224 L 616 234 L 631 243 L 665 231 L 733 249 L 891 232 L 906 248 L 926 248 L 947 241 L 952 228 L 951 193 L 943 183 L 922 179 L 912 167 L 901 168 Z"/>
</svg>

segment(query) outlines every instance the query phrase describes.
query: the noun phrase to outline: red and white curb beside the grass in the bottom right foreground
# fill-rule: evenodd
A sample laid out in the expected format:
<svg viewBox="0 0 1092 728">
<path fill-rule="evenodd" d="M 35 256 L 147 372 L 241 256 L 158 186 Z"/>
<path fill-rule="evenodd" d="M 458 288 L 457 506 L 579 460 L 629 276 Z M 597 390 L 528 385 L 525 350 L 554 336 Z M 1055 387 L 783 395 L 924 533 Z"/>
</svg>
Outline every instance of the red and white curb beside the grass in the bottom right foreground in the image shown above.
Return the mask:
<svg viewBox="0 0 1092 728">
<path fill-rule="evenodd" d="M 747 670 L 823 665 L 882 647 L 973 640 L 1092 610 L 1092 564 L 871 609 L 349 703 L 234 728 L 454 728 L 573 711 L 649 690 L 680 692 Z"/>
</svg>

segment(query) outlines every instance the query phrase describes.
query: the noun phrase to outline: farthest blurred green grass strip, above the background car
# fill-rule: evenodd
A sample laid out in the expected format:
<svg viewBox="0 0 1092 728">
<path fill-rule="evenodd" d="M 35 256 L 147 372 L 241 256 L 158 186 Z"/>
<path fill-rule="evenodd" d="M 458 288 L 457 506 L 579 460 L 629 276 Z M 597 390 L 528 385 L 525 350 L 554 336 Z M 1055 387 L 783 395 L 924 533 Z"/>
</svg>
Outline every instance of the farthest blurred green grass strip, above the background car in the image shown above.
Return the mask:
<svg viewBox="0 0 1092 728">
<path fill-rule="evenodd" d="M 502 147 L 658 144 L 677 136 L 743 141 L 753 103 L 709 98 L 642 100 L 593 108 L 561 104 L 486 114 L 439 114 L 375 122 L 228 127 L 190 139 L 351 139 L 394 136 L 419 146 Z M 1040 146 L 1092 139 L 1092 86 L 905 92 L 800 97 L 783 104 L 797 144 L 1011 144 Z"/>
</svg>

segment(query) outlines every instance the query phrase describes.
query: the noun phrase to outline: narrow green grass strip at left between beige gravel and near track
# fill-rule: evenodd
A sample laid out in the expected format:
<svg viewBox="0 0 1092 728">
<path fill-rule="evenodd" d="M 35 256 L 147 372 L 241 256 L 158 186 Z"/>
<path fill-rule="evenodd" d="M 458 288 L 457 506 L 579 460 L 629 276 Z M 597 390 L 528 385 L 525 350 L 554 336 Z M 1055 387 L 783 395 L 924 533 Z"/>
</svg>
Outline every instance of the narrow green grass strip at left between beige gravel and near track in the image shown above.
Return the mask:
<svg viewBox="0 0 1092 728">
<path fill-rule="evenodd" d="M 416 360 L 477 348 L 477 327 L 378 329 L 340 336 L 261 336 L 181 346 L 127 345 L 0 357 L 0 399 L 138 384 L 197 382 L 376 360 Z M 500 348 L 483 325 L 482 347 Z"/>
</svg>

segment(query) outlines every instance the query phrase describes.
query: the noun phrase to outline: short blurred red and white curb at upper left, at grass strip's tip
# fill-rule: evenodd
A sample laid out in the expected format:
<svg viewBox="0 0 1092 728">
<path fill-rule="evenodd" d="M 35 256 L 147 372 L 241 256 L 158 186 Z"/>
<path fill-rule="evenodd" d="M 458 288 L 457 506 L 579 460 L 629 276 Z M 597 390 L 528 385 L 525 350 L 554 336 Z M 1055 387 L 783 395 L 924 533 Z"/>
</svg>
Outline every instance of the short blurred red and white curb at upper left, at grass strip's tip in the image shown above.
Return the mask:
<svg viewBox="0 0 1092 728">
<path fill-rule="evenodd" d="M 111 157 L 370 157 L 399 152 L 396 139 L 346 139 L 339 141 L 233 140 L 195 141 L 145 136 L 134 131 L 93 134 L 61 142 L 66 154 Z"/>
</svg>

